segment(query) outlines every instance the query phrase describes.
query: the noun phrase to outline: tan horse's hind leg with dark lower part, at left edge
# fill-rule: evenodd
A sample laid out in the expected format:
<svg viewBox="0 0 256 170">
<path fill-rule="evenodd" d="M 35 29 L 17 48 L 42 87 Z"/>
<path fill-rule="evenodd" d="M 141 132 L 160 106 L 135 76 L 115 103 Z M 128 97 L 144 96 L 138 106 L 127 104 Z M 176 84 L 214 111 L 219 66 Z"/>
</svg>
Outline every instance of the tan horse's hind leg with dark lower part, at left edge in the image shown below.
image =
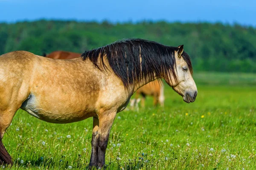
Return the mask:
<svg viewBox="0 0 256 170">
<path fill-rule="evenodd" d="M 7 152 L 6 148 L 3 145 L 2 139 L 3 134 L 6 132 L 6 129 L 12 122 L 12 118 L 15 115 L 15 112 L 10 111 L 0 111 L 0 165 L 7 164 L 13 165 L 12 157 Z"/>
</svg>

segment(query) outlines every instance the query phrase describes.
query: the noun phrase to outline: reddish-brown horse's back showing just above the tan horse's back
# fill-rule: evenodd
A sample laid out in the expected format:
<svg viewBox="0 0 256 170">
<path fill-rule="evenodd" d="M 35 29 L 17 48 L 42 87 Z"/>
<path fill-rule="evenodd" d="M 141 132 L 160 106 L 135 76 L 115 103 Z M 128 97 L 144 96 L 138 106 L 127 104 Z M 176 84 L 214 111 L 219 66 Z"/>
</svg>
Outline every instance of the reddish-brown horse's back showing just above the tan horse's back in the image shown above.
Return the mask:
<svg viewBox="0 0 256 170">
<path fill-rule="evenodd" d="M 53 51 L 50 54 L 43 54 L 44 57 L 52 59 L 73 59 L 81 56 L 80 53 L 74 53 L 69 51 Z"/>
</svg>

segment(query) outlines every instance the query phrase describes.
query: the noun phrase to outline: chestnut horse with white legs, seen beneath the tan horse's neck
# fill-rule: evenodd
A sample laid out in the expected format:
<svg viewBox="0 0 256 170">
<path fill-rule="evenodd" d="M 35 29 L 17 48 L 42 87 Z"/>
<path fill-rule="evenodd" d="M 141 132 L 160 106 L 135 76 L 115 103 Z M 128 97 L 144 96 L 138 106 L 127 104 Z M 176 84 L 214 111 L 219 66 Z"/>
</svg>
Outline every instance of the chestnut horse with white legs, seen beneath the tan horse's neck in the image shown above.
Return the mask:
<svg viewBox="0 0 256 170">
<path fill-rule="evenodd" d="M 141 105 L 145 108 L 145 98 L 146 96 L 153 96 L 154 101 L 153 104 L 156 107 L 160 105 L 163 107 L 164 105 L 164 94 L 163 94 L 163 81 L 161 79 L 154 80 L 153 82 L 149 82 L 146 85 L 143 85 L 135 92 L 135 98 L 131 99 L 130 104 L 131 107 L 134 106 L 138 109 L 138 103 L 140 102 L 139 97 L 142 96 Z"/>
</svg>

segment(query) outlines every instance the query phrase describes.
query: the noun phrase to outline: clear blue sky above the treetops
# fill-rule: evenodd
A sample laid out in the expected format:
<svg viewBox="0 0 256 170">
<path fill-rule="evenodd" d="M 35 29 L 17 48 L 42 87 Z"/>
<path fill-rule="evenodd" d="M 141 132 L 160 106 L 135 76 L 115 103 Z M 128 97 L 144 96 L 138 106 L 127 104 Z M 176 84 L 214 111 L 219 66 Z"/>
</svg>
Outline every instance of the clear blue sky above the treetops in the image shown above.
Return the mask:
<svg viewBox="0 0 256 170">
<path fill-rule="evenodd" d="M 0 0 L 0 22 L 166 20 L 256 26 L 256 0 Z"/>
</svg>

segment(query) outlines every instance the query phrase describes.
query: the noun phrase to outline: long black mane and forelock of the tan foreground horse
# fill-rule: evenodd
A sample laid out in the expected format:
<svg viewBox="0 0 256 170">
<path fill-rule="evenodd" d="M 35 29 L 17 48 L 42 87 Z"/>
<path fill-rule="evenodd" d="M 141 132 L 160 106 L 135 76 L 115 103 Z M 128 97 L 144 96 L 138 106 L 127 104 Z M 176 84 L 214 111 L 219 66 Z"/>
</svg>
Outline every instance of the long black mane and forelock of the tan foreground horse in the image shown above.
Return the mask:
<svg viewBox="0 0 256 170">
<path fill-rule="evenodd" d="M 113 73 L 119 77 L 125 88 L 128 88 L 136 82 L 146 82 L 147 79 L 154 79 L 154 76 L 167 78 L 170 74 L 177 82 L 175 51 L 178 49 L 154 41 L 126 39 L 85 51 L 81 57 L 83 60 L 89 58 L 101 71 L 108 69 L 105 64 L 107 61 Z M 192 74 L 189 55 L 183 52 L 182 57 Z"/>
</svg>

